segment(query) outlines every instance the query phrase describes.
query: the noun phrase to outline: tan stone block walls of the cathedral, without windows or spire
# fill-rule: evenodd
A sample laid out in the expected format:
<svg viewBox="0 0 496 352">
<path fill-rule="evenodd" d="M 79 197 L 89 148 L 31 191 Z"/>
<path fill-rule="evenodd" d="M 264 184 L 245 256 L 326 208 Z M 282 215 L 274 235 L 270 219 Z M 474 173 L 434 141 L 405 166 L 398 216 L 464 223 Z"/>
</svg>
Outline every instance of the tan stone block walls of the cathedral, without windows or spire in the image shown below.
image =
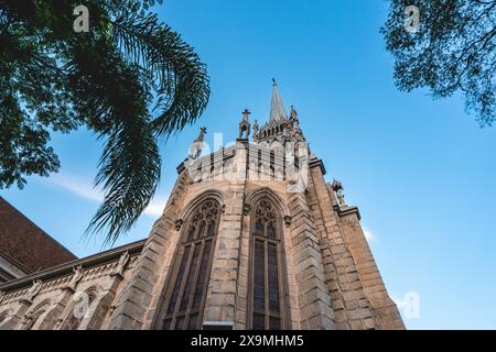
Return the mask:
<svg viewBox="0 0 496 352">
<path fill-rule="evenodd" d="M 82 319 L 80 329 L 160 329 L 182 223 L 206 198 L 216 199 L 223 213 L 203 321 L 247 329 L 250 207 L 262 196 L 277 205 L 281 220 L 287 328 L 405 329 L 363 233 L 358 209 L 336 202 L 321 163 L 309 164 L 306 189 L 291 193 L 285 180 L 252 177 L 244 144 L 228 154 L 228 160 L 216 154 L 223 163 L 206 179 L 179 168 L 162 216 L 139 245 L 100 254 L 106 260 L 84 258 L 0 286 L 6 290 L 0 296 L 0 329 L 61 329 L 80 293 L 95 288 L 95 309 Z M 132 255 L 119 271 L 126 251 Z M 72 285 L 75 265 L 83 265 L 84 276 Z M 33 279 L 42 279 L 42 286 L 30 298 Z"/>
</svg>

